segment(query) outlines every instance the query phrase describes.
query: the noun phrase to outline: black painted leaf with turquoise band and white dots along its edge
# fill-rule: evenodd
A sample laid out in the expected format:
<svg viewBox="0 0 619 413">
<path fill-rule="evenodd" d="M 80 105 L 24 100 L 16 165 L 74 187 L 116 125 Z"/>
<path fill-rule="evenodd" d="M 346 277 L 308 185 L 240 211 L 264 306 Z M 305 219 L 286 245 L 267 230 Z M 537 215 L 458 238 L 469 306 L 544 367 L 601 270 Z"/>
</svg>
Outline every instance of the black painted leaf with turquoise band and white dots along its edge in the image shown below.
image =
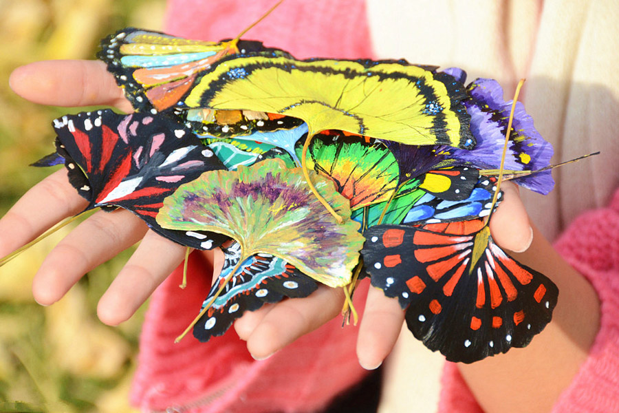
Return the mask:
<svg viewBox="0 0 619 413">
<path fill-rule="evenodd" d="M 233 243 L 224 249 L 224 268 L 217 276 L 202 309 L 217 294 L 221 283 L 239 264 L 241 244 Z M 223 335 L 235 319 L 246 311 L 254 311 L 265 303 L 276 303 L 284 297 L 301 298 L 312 294 L 318 285 L 284 260 L 269 254 L 248 257 L 234 275 L 228 279 L 224 290 L 213 301 L 206 313 L 193 326 L 193 336 L 199 341 Z"/>
</svg>

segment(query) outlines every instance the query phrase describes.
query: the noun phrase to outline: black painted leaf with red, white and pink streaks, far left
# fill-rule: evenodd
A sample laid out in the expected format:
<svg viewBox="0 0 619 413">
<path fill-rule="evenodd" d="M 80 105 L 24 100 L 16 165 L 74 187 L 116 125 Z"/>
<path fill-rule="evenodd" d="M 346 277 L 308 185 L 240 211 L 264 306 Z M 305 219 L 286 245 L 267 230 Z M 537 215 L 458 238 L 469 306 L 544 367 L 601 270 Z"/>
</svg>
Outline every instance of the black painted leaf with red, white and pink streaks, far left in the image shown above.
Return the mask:
<svg viewBox="0 0 619 413">
<path fill-rule="evenodd" d="M 171 231 L 155 221 L 162 202 L 178 185 L 203 172 L 224 169 L 189 129 L 148 114 L 120 115 L 109 109 L 54 120 L 56 149 L 65 159 L 69 182 L 89 205 L 121 207 L 153 231 L 199 249 L 227 237 L 202 231 Z"/>
</svg>

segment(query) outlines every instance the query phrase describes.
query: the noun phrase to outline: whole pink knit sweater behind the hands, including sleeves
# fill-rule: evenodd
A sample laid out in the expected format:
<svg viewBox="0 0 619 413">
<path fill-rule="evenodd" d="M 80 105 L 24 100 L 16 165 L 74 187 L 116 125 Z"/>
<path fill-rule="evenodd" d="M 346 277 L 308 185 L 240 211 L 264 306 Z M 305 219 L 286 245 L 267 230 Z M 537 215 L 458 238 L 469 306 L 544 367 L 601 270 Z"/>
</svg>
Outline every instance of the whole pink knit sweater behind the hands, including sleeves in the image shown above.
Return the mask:
<svg viewBox="0 0 619 413">
<path fill-rule="evenodd" d="M 270 3 L 274 1 L 172 0 L 166 30 L 195 39 L 234 37 Z M 298 58 L 373 56 L 365 1 L 339 1 L 338 8 L 331 7 L 332 0 L 288 0 L 285 5 L 246 37 L 289 50 Z M 557 401 L 556 412 L 619 411 L 617 229 L 619 191 L 610 207 L 583 214 L 556 244 L 565 259 L 589 278 L 602 301 L 601 328 L 589 360 Z M 357 329 L 341 328 L 340 319 L 264 361 L 250 357 L 233 329 L 208 343 L 186 337 L 174 344 L 208 292 L 210 273 L 204 268 L 199 255 L 192 255 L 188 288 L 177 287 L 177 270 L 151 299 L 131 392 L 133 404 L 142 410 L 318 411 L 366 374 L 354 351 Z M 363 302 L 365 293 L 356 297 L 361 310 Z M 444 371 L 440 411 L 481 412 L 455 365 L 448 364 Z"/>
</svg>

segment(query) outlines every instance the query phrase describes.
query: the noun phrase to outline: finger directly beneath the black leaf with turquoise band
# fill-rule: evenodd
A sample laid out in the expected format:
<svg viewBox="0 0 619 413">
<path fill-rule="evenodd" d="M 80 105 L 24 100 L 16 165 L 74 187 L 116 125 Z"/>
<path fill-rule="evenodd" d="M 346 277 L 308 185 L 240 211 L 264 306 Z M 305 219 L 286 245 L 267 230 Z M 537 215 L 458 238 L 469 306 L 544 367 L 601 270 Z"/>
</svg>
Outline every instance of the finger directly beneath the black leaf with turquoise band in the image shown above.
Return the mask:
<svg viewBox="0 0 619 413">
<path fill-rule="evenodd" d="M 247 348 L 254 359 L 265 359 L 336 317 L 343 304 L 342 288 L 322 285 L 309 297 L 281 301 L 258 315 L 259 324 L 247 337 Z"/>
</svg>

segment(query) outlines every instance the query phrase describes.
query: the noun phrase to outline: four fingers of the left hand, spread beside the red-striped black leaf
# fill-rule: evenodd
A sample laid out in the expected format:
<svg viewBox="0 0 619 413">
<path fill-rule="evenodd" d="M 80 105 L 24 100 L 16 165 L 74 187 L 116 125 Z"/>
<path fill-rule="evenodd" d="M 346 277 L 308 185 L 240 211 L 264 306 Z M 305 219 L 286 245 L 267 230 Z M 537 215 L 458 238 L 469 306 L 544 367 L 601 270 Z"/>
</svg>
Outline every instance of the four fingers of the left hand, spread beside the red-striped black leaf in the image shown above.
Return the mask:
<svg viewBox="0 0 619 413">
<path fill-rule="evenodd" d="M 14 92 L 43 105 L 112 105 L 131 112 L 122 89 L 98 61 L 43 61 L 12 73 Z M 69 184 L 63 169 L 36 184 L 0 220 L 0 257 L 34 239 L 87 202 Z M 184 247 L 148 231 L 129 211 L 98 211 L 47 255 L 34 277 L 34 299 L 49 305 L 61 299 L 80 277 L 142 240 L 98 305 L 106 324 L 129 319 L 153 290 L 183 260 Z"/>
</svg>

